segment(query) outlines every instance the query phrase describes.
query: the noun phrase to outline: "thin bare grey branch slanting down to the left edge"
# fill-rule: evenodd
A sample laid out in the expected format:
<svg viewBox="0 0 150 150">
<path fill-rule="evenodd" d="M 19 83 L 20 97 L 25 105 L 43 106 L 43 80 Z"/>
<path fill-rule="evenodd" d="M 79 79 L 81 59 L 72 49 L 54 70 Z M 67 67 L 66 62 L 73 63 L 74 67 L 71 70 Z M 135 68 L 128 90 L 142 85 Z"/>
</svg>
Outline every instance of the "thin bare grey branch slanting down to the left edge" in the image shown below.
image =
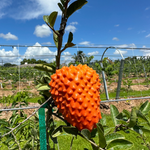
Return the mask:
<svg viewBox="0 0 150 150">
<path fill-rule="evenodd" d="M 15 129 L 17 129 L 20 125 L 22 125 L 23 123 L 25 123 L 27 120 L 29 120 L 34 114 L 36 114 L 36 112 L 42 107 L 44 106 L 49 100 L 51 99 L 51 97 L 49 97 L 42 105 L 39 106 L 39 108 L 37 110 L 35 110 L 28 118 L 26 118 L 25 120 L 23 120 L 21 123 L 19 123 L 15 128 L 12 128 L 8 133 L 5 133 L 4 135 L 0 136 L 0 138 L 3 138 L 4 136 L 12 133 Z"/>
</svg>

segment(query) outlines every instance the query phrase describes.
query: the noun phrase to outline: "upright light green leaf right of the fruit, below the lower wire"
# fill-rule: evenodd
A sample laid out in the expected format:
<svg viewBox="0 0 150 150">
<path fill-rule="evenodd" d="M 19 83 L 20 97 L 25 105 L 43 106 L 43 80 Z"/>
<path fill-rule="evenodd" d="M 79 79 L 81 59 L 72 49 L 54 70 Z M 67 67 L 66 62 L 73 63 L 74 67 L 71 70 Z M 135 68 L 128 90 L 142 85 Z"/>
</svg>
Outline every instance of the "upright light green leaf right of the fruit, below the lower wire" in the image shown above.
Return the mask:
<svg viewBox="0 0 150 150">
<path fill-rule="evenodd" d="M 119 114 L 119 111 L 116 106 L 110 105 L 110 112 L 111 112 L 111 117 L 113 119 L 113 123 L 116 126 L 119 124 L 118 120 L 116 119 L 116 116 Z"/>
</svg>

